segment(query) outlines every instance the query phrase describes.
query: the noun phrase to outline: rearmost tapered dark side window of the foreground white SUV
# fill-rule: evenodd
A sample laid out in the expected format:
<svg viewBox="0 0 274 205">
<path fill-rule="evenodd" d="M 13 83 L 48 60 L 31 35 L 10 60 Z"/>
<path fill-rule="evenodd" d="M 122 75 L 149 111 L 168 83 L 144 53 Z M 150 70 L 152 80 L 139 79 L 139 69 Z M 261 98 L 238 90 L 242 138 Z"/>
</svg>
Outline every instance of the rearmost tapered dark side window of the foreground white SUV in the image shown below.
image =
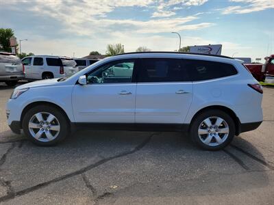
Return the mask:
<svg viewBox="0 0 274 205">
<path fill-rule="evenodd" d="M 218 79 L 238 73 L 231 64 L 195 59 L 184 59 L 183 61 L 192 81 Z"/>
</svg>

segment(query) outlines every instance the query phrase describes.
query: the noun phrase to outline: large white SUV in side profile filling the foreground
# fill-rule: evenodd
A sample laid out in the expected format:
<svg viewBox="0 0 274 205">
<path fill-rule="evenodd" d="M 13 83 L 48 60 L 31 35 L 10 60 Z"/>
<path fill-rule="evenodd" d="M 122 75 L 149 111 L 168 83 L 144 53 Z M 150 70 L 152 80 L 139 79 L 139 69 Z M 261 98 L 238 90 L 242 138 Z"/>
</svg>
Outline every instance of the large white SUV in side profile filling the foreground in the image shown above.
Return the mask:
<svg viewBox="0 0 274 205">
<path fill-rule="evenodd" d="M 123 65 L 123 66 L 121 66 Z M 16 87 L 7 105 L 12 131 L 41 146 L 78 126 L 183 131 L 218 150 L 262 122 L 262 87 L 241 61 L 182 53 L 127 53 L 72 77 Z"/>
</svg>

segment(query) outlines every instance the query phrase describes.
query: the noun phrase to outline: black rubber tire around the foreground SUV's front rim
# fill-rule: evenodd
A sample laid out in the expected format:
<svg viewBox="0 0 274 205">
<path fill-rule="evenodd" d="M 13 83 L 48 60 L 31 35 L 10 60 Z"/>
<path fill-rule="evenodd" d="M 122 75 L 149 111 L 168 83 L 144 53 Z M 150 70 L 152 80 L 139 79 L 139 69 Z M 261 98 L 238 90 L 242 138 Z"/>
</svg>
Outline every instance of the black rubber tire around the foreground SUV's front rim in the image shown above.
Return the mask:
<svg viewBox="0 0 274 205">
<path fill-rule="evenodd" d="M 60 131 L 58 133 L 58 135 L 56 135 L 56 137 L 51 140 L 51 141 L 40 141 L 38 139 L 35 139 L 31 132 L 29 131 L 29 121 L 33 118 L 33 116 L 36 113 L 50 113 L 52 115 L 55 116 L 55 118 L 58 120 L 58 124 L 60 125 Z M 43 117 L 44 120 L 45 116 Z M 53 122 L 54 123 L 54 122 Z M 25 113 L 25 115 L 23 116 L 23 122 L 22 122 L 22 127 L 23 127 L 23 131 L 25 133 L 25 135 L 36 145 L 38 146 L 53 146 L 57 143 L 60 143 L 60 141 L 64 140 L 64 138 L 69 135 L 70 132 L 70 126 L 69 126 L 69 122 L 66 119 L 64 113 L 62 111 L 60 111 L 60 109 L 53 107 L 53 106 L 49 106 L 49 105 L 38 105 L 36 107 L 33 107 L 32 109 L 29 109 L 29 111 L 27 111 L 27 113 Z M 40 128 L 37 128 L 36 130 L 39 130 Z M 46 137 L 46 134 L 42 134 L 42 137 Z"/>
</svg>

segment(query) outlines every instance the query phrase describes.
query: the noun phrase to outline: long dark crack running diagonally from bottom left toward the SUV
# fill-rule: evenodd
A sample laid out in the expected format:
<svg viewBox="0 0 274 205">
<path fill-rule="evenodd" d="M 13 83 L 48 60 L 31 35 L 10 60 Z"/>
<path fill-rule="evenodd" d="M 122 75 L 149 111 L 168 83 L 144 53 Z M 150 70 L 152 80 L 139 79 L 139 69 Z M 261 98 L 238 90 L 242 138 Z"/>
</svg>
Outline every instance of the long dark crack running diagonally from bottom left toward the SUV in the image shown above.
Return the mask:
<svg viewBox="0 0 274 205">
<path fill-rule="evenodd" d="M 55 183 L 55 182 L 60 182 L 61 180 L 65 180 L 67 178 L 71 178 L 73 176 L 77 176 L 79 174 L 83 174 L 83 173 L 89 171 L 90 169 L 98 167 L 99 165 L 102 165 L 103 163 L 107 163 L 108 161 L 112 161 L 113 159 L 117 159 L 117 158 L 120 158 L 120 157 L 123 157 L 123 156 L 127 156 L 129 154 L 133 154 L 134 152 L 139 151 L 145 145 L 147 145 L 147 143 L 149 143 L 149 141 L 151 140 L 151 138 L 153 137 L 153 135 L 156 135 L 156 134 L 157 133 L 151 134 L 149 137 L 147 137 L 147 139 L 145 139 L 144 141 L 142 141 L 142 143 L 140 143 L 138 146 L 136 146 L 132 150 L 128 150 L 128 151 L 125 151 L 125 152 L 121 152 L 120 154 L 117 154 L 117 155 L 114 155 L 114 156 L 110 156 L 108 158 L 105 158 L 105 159 L 102 159 L 100 161 L 97 161 L 97 163 L 88 165 L 86 167 L 83 167 L 82 169 L 78 169 L 75 172 L 71 172 L 69 174 L 65 174 L 63 176 L 59 176 L 57 178 L 53 178 L 52 180 L 49 180 L 47 182 L 42 182 L 40 184 L 36 184 L 33 187 L 28 187 L 28 188 L 23 189 L 21 191 L 14 192 L 12 195 L 5 195 L 3 197 L 0 197 L 0 202 L 4 202 L 4 201 L 7 201 L 7 200 L 12 200 L 14 197 L 25 195 L 27 193 L 31 193 L 32 191 L 36 191 L 36 190 L 41 189 L 43 187 L 47 187 L 49 184 L 52 184 L 52 183 Z M 106 195 L 108 195 L 108 194 L 106 194 Z M 105 196 L 101 196 L 101 197 L 105 197 Z"/>
</svg>

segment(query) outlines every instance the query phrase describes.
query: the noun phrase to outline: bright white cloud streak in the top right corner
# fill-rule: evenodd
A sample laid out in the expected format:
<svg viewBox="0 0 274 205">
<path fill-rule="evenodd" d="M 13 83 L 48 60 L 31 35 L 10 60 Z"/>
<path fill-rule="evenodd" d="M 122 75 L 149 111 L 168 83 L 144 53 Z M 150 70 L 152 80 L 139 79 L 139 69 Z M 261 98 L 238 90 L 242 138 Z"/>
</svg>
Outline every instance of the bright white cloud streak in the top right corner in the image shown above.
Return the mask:
<svg viewBox="0 0 274 205">
<path fill-rule="evenodd" d="M 260 12 L 269 8 L 274 8 L 271 0 L 230 0 L 235 3 L 245 3 L 247 5 L 234 5 L 223 9 L 222 14 L 247 14 Z"/>
</svg>

